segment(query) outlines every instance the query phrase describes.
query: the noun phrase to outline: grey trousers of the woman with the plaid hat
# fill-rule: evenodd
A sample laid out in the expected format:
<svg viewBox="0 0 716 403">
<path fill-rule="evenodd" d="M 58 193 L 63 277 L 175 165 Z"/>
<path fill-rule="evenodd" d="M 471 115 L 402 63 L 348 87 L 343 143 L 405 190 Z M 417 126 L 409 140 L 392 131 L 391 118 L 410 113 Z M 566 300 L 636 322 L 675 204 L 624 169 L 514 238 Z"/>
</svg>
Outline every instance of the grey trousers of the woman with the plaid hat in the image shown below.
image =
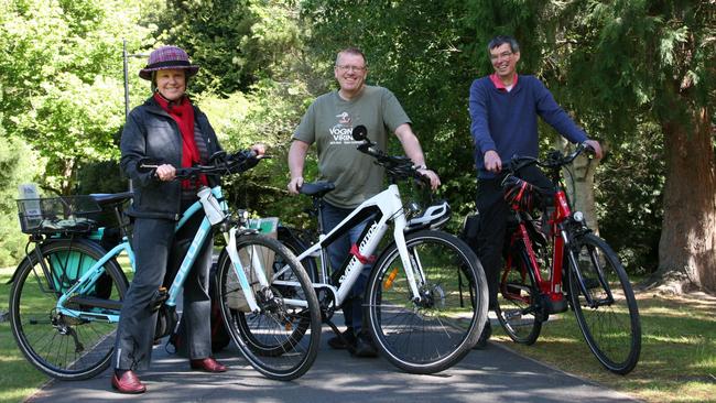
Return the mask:
<svg viewBox="0 0 716 403">
<path fill-rule="evenodd" d="M 148 369 L 152 358 L 156 313 L 149 304 L 162 284 L 171 284 L 204 214 L 196 214 L 174 235 L 175 222 L 137 218 L 132 237 L 137 272 L 122 303 L 115 346 L 115 369 Z M 209 269 L 213 240 L 207 239 L 184 282 L 186 346 L 191 359 L 211 355 Z M 169 276 L 165 281 L 165 275 Z"/>
</svg>

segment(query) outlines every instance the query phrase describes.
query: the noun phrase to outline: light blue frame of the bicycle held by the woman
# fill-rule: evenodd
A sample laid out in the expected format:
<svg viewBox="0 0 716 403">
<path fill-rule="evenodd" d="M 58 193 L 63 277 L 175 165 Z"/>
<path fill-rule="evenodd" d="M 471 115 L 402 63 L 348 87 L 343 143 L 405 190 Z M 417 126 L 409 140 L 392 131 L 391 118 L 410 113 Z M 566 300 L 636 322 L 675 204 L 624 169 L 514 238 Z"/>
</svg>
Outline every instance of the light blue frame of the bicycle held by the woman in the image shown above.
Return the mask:
<svg viewBox="0 0 716 403">
<path fill-rule="evenodd" d="M 228 204 L 223 197 L 221 193 L 221 187 L 216 186 L 211 188 L 211 195 L 216 197 L 217 200 L 221 200 L 220 207 L 223 210 L 223 214 L 226 217 L 229 215 L 229 208 Z M 182 219 L 176 224 L 175 232 L 178 231 L 180 228 L 182 228 L 186 221 L 193 217 L 197 211 L 203 209 L 203 205 L 200 202 L 194 203 L 192 206 L 189 206 L 186 211 L 184 211 L 184 215 Z M 207 215 L 208 216 L 208 215 Z M 194 239 L 192 240 L 192 243 L 188 247 L 188 250 L 186 252 L 186 255 L 184 257 L 184 260 L 182 261 L 182 264 L 180 265 L 180 269 L 174 277 L 174 281 L 167 292 L 167 299 L 164 302 L 164 305 L 167 306 L 176 306 L 176 298 L 178 297 L 178 294 L 181 290 L 183 288 L 184 281 L 186 280 L 186 276 L 192 269 L 192 265 L 194 264 L 194 261 L 196 260 L 196 254 L 200 250 L 202 246 L 206 241 L 207 237 L 211 233 L 211 224 L 209 222 L 208 217 L 204 217 L 202 220 L 202 224 L 199 225 L 198 230 L 196 231 L 196 235 L 194 236 Z M 231 262 L 234 263 L 234 269 L 236 272 L 236 275 L 239 280 L 239 284 L 241 285 L 241 290 L 243 292 L 243 295 L 246 297 L 247 304 L 249 305 L 249 308 L 251 312 L 259 312 L 260 308 L 256 302 L 256 297 L 253 293 L 251 292 L 251 286 L 249 285 L 249 281 L 247 277 L 247 274 L 243 270 L 243 266 L 241 265 L 241 261 L 238 257 L 238 253 L 236 252 L 236 237 L 237 237 L 237 228 L 232 227 L 228 231 L 224 231 L 225 239 L 227 241 L 227 248 L 229 252 L 229 257 L 231 259 Z M 239 235 L 240 236 L 240 235 Z M 35 249 L 36 250 L 36 249 Z M 79 312 L 76 309 L 72 309 L 65 304 L 67 303 L 68 299 L 73 298 L 74 295 L 82 295 L 83 293 L 86 293 L 89 287 L 91 287 L 97 279 L 104 273 L 104 264 L 107 263 L 109 260 L 117 258 L 121 252 L 127 252 L 127 255 L 129 257 L 130 261 L 130 266 L 132 271 L 135 270 L 134 268 L 134 252 L 132 251 L 131 244 L 127 238 L 127 236 L 123 237 L 122 242 L 115 248 L 112 248 L 110 251 L 108 251 L 99 261 L 97 261 L 95 264 L 93 264 L 89 270 L 87 270 L 79 279 L 78 281 L 67 290 L 58 299 L 57 299 L 57 305 L 56 309 L 58 313 L 75 317 L 75 318 L 83 318 L 83 319 L 90 319 L 90 320 L 107 320 L 109 323 L 116 323 L 119 322 L 119 315 L 113 315 L 113 314 L 107 314 L 107 313 L 88 313 L 88 312 Z M 42 264 L 44 265 L 44 262 L 41 260 Z M 268 280 L 264 275 L 263 268 L 260 268 L 259 262 L 256 261 L 253 264 L 254 271 L 257 279 L 259 280 L 261 286 L 268 286 Z M 77 301 L 78 298 L 73 298 L 74 301 Z M 289 301 L 291 302 L 291 301 Z M 300 301 L 293 301 L 292 303 L 300 305 L 300 306 L 305 306 L 305 302 L 300 302 Z M 117 304 L 119 305 L 119 304 Z M 113 308 L 119 308 L 118 306 L 113 306 Z"/>
</svg>

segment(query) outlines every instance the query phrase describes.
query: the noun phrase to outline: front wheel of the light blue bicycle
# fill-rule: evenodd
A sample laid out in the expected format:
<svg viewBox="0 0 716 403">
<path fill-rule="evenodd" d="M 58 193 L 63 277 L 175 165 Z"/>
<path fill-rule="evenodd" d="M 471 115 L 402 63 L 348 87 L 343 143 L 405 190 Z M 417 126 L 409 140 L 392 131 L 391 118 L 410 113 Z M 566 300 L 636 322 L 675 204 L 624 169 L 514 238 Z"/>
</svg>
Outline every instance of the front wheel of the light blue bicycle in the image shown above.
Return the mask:
<svg viewBox="0 0 716 403">
<path fill-rule="evenodd" d="M 221 316 L 229 335 L 249 363 L 267 378 L 296 379 L 311 368 L 321 342 L 321 311 L 313 284 L 295 255 L 275 239 L 241 236 L 236 248 L 245 270 L 259 261 L 264 268 L 271 268 L 270 292 L 278 297 L 261 298 L 259 294 L 265 294 L 256 287 L 254 272 L 247 270 L 261 312 L 237 307 L 236 298 L 241 299 L 243 295 L 240 285 L 231 282 L 234 265 L 228 254 L 223 253 L 217 274 Z M 275 276 L 285 265 L 289 270 Z M 279 280 L 299 285 L 275 284 Z M 306 301 L 307 308 L 290 307 L 283 303 L 284 298 Z"/>
</svg>

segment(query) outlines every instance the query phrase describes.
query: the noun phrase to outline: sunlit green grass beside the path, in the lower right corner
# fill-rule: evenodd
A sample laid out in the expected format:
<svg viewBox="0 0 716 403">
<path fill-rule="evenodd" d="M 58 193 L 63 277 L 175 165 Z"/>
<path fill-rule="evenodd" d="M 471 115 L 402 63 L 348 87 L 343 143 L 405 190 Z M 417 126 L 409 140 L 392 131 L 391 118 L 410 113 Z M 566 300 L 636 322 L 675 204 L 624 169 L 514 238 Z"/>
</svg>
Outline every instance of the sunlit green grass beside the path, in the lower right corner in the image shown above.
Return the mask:
<svg viewBox="0 0 716 403">
<path fill-rule="evenodd" d="M 495 340 L 525 356 L 648 402 L 716 402 L 716 297 L 638 293 L 641 358 L 629 374 L 604 369 L 568 312 L 544 324 L 533 346 Z M 499 327 L 499 326 L 498 326 Z"/>
</svg>

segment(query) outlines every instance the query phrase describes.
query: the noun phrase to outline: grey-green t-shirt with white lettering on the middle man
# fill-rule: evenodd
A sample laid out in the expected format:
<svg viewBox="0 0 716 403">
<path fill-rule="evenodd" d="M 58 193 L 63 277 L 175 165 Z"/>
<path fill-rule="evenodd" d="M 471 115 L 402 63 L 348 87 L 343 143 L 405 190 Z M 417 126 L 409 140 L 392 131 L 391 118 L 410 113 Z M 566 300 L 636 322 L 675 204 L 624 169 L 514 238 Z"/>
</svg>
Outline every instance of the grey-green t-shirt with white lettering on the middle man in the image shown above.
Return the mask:
<svg viewBox="0 0 716 403">
<path fill-rule="evenodd" d="M 308 107 L 293 138 L 316 143 L 321 179 L 336 188 L 326 200 L 336 207 L 354 208 L 377 195 L 383 187 L 383 168 L 375 159 L 357 150 L 351 132 L 356 126 L 368 129 L 368 138 L 387 150 L 388 133 L 410 118 L 390 90 L 366 86 L 361 94 L 347 101 L 338 91 L 324 94 Z"/>
</svg>

